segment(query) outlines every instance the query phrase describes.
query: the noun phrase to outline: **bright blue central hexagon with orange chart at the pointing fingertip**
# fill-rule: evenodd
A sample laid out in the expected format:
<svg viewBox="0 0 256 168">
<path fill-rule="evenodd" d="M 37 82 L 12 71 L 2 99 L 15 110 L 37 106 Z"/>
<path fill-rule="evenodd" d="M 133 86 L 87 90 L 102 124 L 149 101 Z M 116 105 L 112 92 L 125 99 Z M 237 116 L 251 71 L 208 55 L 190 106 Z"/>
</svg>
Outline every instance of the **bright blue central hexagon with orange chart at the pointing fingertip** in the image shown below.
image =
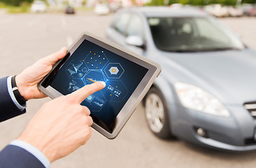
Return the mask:
<svg viewBox="0 0 256 168">
<path fill-rule="evenodd" d="M 87 84 L 95 83 L 97 81 L 107 81 L 107 78 L 102 73 L 102 71 L 93 71 L 90 70 L 88 73 L 86 73 L 86 76 L 83 78 Z"/>
</svg>

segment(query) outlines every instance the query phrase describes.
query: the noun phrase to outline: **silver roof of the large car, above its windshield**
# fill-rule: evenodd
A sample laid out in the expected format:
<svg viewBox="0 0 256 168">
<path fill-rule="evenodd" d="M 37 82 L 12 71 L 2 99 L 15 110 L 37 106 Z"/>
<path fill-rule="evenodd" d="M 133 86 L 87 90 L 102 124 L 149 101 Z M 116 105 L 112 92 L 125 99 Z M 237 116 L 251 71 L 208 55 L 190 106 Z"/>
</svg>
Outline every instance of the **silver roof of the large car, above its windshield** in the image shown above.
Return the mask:
<svg viewBox="0 0 256 168">
<path fill-rule="evenodd" d="M 209 16 L 201 10 L 193 8 L 170 8 L 170 7 L 135 7 L 123 9 L 126 12 L 142 13 L 147 18 L 151 17 L 203 17 Z"/>
</svg>

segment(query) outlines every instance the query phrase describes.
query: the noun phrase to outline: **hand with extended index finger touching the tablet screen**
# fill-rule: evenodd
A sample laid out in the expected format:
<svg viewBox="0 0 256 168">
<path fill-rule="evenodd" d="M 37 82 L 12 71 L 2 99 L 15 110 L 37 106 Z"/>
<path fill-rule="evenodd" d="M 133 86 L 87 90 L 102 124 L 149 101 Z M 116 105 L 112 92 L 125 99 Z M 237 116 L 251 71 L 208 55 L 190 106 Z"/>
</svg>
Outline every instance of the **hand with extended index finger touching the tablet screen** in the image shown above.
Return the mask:
<svg viewBox="0 0 256 168">
<path fill-rule="evenodd" d="M 18 138 L 39 149 L 50 162 L 72 153 L 90 138 L 90 110 L 81 106 L 86 97 L 105 87 L 97 82 L 44 104 Z"/>
</svg>

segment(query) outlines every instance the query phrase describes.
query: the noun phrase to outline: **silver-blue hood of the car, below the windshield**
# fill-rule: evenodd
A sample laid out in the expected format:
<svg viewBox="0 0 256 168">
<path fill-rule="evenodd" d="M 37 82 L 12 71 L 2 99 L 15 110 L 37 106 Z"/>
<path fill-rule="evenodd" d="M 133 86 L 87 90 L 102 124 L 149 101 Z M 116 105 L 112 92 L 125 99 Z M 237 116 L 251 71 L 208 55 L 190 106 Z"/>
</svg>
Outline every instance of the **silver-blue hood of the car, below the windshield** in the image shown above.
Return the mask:
<svg viewBox="0 0 256 168">
<path fill-rule="evenodd" d="M 172 76 L 173 71 L 173 82 L 202 87 L 224 104 L 256 102 L 256 52 L 253 50 L 162 52 L 157 61 L 163 73 Z"/>
</svg>

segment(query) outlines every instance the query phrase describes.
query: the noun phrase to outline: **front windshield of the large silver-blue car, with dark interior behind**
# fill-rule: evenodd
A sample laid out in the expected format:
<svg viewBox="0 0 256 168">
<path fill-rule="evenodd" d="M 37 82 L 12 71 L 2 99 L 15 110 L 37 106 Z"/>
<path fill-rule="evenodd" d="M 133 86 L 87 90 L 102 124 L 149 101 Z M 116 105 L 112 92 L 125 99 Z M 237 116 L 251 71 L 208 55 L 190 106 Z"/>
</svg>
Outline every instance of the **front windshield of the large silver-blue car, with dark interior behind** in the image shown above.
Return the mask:
<svg viewBox="0 0 256 168">
<path fill-rule="evenodd" d="M 148 18 L 148 22 L 159 50 L 198 52 L 245 48 L 234 33 L 214 18 Z"/>
</svg>

